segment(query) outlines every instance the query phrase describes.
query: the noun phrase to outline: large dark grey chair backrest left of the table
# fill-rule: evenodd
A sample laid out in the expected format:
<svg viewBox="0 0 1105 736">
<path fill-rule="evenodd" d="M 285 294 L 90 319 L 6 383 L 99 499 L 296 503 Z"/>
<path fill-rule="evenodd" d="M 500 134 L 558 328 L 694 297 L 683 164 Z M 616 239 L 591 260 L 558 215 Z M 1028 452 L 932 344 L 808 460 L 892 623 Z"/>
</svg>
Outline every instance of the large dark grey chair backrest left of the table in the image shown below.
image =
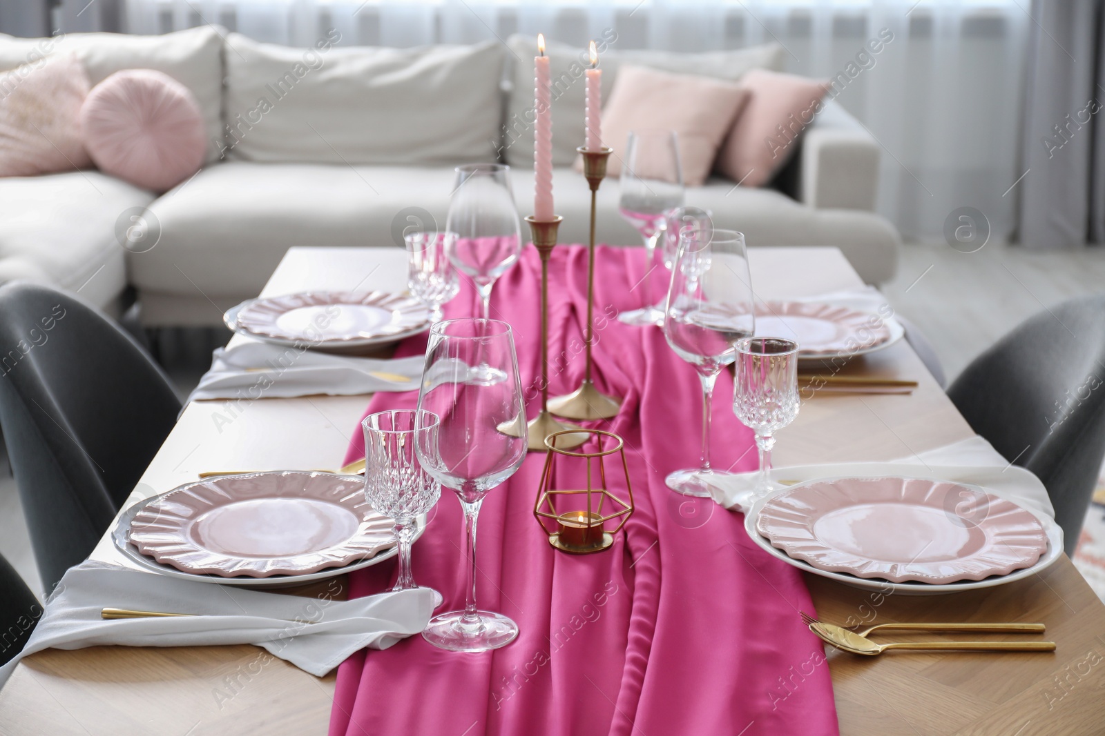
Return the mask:
<svg viewBox="0 0 1105 736">
<path fill-rule="evenodd" d="M 0 287 L 0 425 L 48 591 L 92 552 L 179 410 L 160 369 L 94 308 Z"/>
</svg>

